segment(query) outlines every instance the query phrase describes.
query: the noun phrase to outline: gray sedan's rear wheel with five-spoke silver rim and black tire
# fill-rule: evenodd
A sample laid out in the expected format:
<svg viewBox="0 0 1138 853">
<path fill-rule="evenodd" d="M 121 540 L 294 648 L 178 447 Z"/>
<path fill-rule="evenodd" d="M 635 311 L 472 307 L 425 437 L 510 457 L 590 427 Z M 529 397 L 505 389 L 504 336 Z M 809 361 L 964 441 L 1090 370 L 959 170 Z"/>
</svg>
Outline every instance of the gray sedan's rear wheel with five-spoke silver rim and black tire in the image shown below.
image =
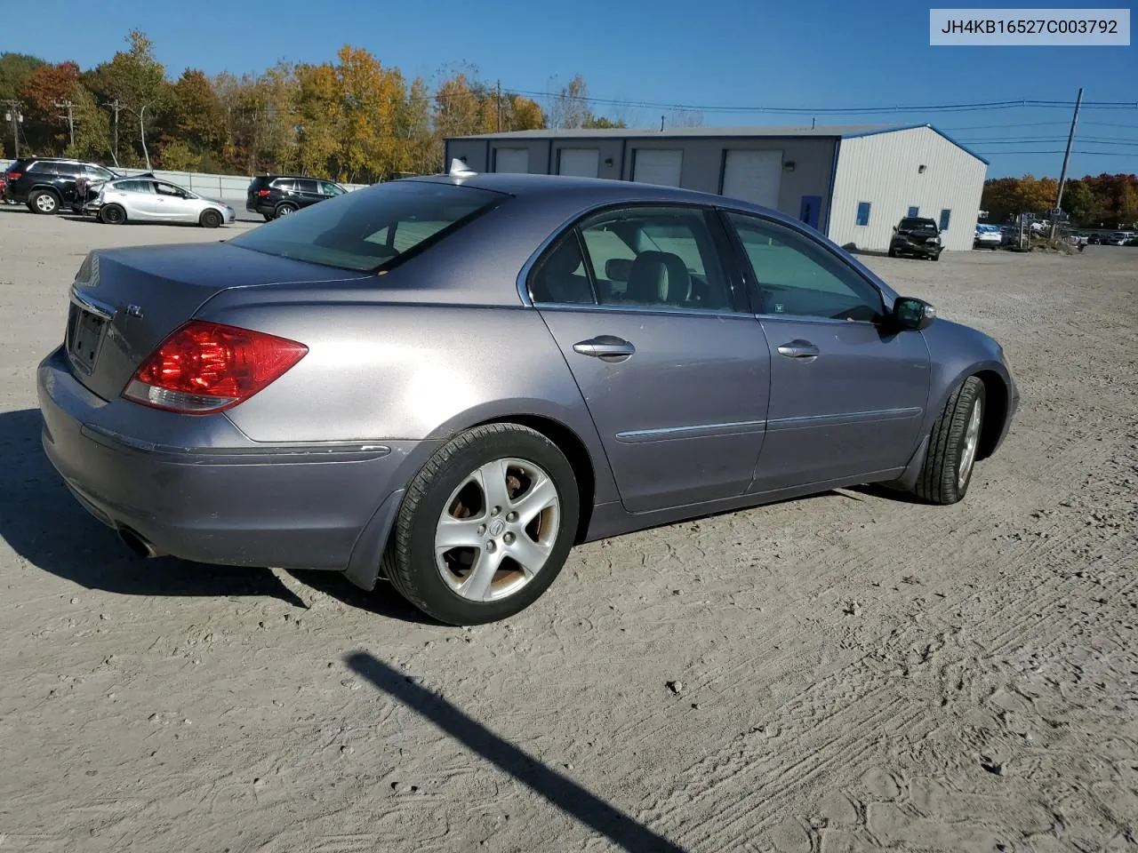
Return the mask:
<svg viewBox="0 0 1138 853">
<path fill-rule="evenodd" d="M 579 512 L 576 477 L 556 445 L 517 424 L 476 426 L 411 481 L 384 573 L 442 622 L 505 619 L 554 581 Z"/>
</svg>

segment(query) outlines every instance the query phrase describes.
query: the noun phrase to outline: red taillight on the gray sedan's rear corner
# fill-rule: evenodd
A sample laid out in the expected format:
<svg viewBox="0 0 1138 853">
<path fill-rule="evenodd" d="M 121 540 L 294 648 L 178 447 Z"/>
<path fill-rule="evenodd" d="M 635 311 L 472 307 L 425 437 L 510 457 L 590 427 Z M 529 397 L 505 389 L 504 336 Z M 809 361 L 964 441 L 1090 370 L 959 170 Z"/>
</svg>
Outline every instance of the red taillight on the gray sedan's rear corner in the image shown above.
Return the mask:
<svg viewBox="0 0 1138 853">
<path fill-rule="evenodd" d="M 142 362 L 123 396 L 184 414 L 221 412 L 280 379 L 307 351 L 287 338 L 193 320 Z"/>
</svg>

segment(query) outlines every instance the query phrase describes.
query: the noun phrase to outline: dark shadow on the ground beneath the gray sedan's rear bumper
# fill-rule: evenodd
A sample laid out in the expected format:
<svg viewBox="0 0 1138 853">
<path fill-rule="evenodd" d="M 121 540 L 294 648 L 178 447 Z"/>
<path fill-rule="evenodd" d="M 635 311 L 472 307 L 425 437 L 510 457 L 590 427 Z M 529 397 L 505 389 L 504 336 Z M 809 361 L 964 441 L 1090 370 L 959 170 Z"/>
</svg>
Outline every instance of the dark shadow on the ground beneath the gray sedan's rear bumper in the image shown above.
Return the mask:
<svg viewBox="0 0 1138 853">
<path fill-rule="evenodd" d="M 0 538 L 32 565 L 88 589 L 142 596 L 256 596 L 307 604 L 269 569 L 134 556 L 83 510 L 48 462 L 38 408 L 0 413 Z M 353 607 L 405 621 L 419 612 L 394 589 L 374 596 L 336 572 L 296 572 L 303 583 Z"/>
</svg>

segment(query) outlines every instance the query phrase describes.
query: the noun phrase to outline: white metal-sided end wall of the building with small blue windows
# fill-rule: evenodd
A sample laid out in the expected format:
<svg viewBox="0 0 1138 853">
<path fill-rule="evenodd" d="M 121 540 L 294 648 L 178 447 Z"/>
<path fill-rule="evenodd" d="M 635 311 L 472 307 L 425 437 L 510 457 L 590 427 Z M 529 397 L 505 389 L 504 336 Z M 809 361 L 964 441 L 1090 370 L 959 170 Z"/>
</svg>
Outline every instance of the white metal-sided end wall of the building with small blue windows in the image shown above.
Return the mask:
<svg viewBox="0 0 1138 853">
<path fill-rule="evenodd" d="M 987 174 L 981 160 L 929 127 L 843 139 L 826 233 L 839 246 L 884 251 L 910 206 L 938 223 L 948 209 L 945 248 L 971 249 Z M 871 204 L 866 226 L 857 224 L 861 201 Z"/>
</svg>

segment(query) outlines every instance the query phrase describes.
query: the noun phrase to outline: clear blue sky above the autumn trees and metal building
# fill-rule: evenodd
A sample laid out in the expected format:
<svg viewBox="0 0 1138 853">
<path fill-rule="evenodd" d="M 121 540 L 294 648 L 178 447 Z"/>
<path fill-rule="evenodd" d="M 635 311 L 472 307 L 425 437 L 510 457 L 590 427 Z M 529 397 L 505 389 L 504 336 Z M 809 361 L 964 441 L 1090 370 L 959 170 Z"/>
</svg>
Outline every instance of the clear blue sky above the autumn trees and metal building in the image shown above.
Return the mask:
<svg viewBox="0 0 1138 853">
<path fill-rule="evenodd" d="M 1112 3 L 1032 2 L 1102 6 Z M 1073 155 L 1071 174 L 1138 172 L 1138 47 L 930 47 L 929 5 L 912 0 L 115 0 L 97 11 L 86 0 L 56 0 L 22 3 L 19 18 L 3 49 L 84 68 L 108 59 L 132 27 L 154 40 L 174 76 L 188 66 L 241 74 L 278 59 L 319 63 L 348 42 L 409 77 L 437 80 L 467 63 L 503 88 L 546 92 L 580 73 L 596 98 L 707 107 L 709 127 L 811 118 L 710 107 L 1073 101 L 1081 85 L 1087 101 L 1131 106 L 1082 110 L 1074 149 L 1110 154 Z M 659 126 L 663 111 L 594 109 L 636 126 Z M 990 176 L 1057 176 L 1070 119 L 1070 108 L 1039 107 L 817 116 L 818 124 L 935 124 L 982 152 Z"/>
</svg>

